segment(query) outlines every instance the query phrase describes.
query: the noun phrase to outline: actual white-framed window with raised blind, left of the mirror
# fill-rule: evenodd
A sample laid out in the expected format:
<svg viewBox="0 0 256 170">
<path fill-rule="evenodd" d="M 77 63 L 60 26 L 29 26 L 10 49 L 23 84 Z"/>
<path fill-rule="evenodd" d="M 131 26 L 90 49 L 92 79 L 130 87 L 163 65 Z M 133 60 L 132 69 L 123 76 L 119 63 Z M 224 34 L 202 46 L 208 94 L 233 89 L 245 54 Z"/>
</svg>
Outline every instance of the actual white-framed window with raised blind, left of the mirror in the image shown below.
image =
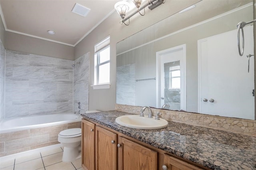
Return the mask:
<svg viewBox="0 0 256 170">
<path fill-rule="evenodd" d="M 94 89 L 109 88 L 110 83 L 110 36 L 94 46 Z M 101 86 L 98 86 L 101 85 Z M 107 85 L 107 86 L 106 86 Z M 98 86 L 98 87 L 96 87 Z"/>
</svg>

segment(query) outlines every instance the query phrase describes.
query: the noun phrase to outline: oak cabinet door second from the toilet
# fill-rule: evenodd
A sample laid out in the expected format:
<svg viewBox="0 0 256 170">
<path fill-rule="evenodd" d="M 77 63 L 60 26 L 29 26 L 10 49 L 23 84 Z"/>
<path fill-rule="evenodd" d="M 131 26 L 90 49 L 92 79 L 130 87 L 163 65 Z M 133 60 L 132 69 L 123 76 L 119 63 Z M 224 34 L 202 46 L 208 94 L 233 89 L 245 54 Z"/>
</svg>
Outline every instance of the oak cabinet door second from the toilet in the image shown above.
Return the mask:
<svg viewBox="0 0 256 170">
<path fill-rule="evenodd" d="M 116 170 L 117 134 L 96 126 L 96 170 Z"/>
</svg>

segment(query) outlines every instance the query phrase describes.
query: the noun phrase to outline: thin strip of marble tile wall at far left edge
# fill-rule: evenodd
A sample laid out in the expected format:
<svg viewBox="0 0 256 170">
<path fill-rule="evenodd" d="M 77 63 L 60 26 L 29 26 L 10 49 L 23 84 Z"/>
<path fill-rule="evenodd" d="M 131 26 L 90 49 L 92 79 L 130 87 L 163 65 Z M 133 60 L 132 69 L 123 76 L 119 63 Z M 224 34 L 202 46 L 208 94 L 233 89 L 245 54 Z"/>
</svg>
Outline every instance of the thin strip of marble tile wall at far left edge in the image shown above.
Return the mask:
<svg viewBox="0 0 256 170">
<path fill-rule="evenodd" d="M 4 119 L 5 49 L 0 40 L 0 121 Z"/>
</svg>

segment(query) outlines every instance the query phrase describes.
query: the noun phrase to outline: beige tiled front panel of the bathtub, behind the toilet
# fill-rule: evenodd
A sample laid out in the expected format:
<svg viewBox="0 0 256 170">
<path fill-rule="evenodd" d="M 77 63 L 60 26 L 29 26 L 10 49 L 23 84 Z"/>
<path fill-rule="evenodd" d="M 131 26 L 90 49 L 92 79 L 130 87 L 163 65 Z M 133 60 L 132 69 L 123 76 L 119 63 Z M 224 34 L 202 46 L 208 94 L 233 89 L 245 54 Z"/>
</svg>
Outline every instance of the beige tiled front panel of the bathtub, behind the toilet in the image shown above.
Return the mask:
<svg viewBox="0 0 256 170">
<path fill-rule="evenodd" d="M 58 144 L 60 131 L 69 128 L 81 128 L 81 122 L 1 133 L 0 157 Z"/>
</svg>

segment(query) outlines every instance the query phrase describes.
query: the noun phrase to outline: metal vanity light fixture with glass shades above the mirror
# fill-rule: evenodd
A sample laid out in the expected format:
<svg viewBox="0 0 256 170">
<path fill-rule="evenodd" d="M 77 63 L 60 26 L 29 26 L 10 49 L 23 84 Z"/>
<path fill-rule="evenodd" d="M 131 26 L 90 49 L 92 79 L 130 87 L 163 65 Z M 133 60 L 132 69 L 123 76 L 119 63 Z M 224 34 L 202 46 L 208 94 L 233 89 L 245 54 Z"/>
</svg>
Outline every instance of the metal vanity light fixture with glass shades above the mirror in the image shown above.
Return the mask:
<svg viewBox="0 0 256 170">
<path fill-rule="evenodd" d="M 116 11 L 118 12 L 118 14 L 120 14 L 122 21 L 120 21 L 121 24 L 124 24 L 126 26 L 128 26 L 130 24 L 130 18 L 132 16 L 134 16 L 137 12 L 144 16 L 145 15 L 145 8 L 148 6 L 148 8 L 150 10 L 153 10 L 154 8 L 156 8 L 157 6 L 159 6 L 160 4 L 164 4 L 165 0 L 148 0 L 148 2 L 146 2 L 145 4 L 141 5 L 142 0 L 132 0 L 136 6 L 136 8 L 138 8 L 138 10 L 132 12 L 130 15 L 126 16 L 126 12 L 129 10 L 129 3 L 126 2 L 125 0 L 117 2 L 114 6 L 114 8 L 116 9 Z M 144 14 L 140 13 L 140 10 L 144 9 Z M 126 16 L 126 18 L 125 18 Z M 126 20 L 129 20 L 128 24 L 125 23 Z"/>
</svg>

